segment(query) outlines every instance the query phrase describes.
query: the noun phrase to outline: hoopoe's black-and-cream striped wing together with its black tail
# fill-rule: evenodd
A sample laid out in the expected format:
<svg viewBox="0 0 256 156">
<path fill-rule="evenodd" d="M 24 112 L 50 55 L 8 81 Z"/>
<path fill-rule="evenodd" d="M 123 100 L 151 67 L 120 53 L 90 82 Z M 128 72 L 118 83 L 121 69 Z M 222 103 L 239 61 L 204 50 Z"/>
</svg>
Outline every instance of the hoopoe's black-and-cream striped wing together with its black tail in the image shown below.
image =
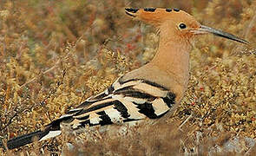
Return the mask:
<svg viewBox="0 0 256 156">
<path fill-rule="evenodd" d="M 52 121 L 43 131 L 25 134 L 8 140 L 7 146 L 13 149 L 34 140 L 46 140 L 60 135 L 61 123 L 74 130 L 81 127 L 109 125 L 128 121 L 157 119 L 167 114 L 173 107 L 175 94 L 167 88 L 142 79 L 121 81 L 119 78 L 101 94 L 90 97 L 67 114 Z"/>
</svg>

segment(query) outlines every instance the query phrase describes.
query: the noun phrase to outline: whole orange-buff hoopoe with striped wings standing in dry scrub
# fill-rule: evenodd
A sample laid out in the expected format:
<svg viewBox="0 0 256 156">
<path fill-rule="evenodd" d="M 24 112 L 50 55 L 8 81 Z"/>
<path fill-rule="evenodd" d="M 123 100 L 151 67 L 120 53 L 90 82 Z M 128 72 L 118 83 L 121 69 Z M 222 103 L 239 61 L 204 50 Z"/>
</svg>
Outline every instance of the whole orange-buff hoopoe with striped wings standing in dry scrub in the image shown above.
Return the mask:
<svg viewBox="0 0 256 156">
<path fill-rule="evenodd" d="M 13 149 L 35 140 L 61 134 L 62 124 L 71 129 L 105 126 L 172 114 L 180 104 L 189 79 L 189 52 L 194 37 L 213 34 L 248 44 L 246 40 L 201 25 L 193 16 L 178 9 L 125 9 L 128 16 L 152 24 L 159 30 L 159 48 L 148 64 L 122 75 L 101 94 L 90 97 L 43 130 L 8 140 Z"/>
</svg>

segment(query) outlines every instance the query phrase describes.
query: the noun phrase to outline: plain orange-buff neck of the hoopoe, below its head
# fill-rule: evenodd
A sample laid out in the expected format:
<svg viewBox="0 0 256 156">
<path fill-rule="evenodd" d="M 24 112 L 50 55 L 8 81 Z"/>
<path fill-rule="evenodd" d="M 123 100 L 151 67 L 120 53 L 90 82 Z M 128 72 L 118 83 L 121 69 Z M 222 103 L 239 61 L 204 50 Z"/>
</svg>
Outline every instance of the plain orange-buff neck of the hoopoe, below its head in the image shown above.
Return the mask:
<svg viewBox="0 0 256 156">
<path fill-rule="evenodd" d="M 160 36 L 159 49 L 151 63 L 167 75 L 173 76 L 182 87 L 187 88 L 191 49 L 189 42 L 182 42 L 173 36 Z"/>
</svg>

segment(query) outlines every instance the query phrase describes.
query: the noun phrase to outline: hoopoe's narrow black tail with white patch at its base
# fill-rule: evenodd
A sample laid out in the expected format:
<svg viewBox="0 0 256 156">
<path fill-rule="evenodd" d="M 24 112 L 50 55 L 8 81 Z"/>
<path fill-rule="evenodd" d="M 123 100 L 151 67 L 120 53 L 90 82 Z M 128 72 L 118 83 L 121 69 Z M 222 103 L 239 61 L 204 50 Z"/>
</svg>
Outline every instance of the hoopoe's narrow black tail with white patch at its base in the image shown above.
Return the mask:
<svg viewBox="0 0 256 156">
<path fill-rule="evenodd" d="M 56 137 L 57 135 L 60 135 L 62 132 L 61 130 L 45 130 L 45 131 L 36 131 L 33 133 L 24 134 L 22 136 L 18 136 L 16 138 L 13 138 L 11 140 L 7 141 L 7 147 L 8 149 L 17 148 L 19 146 L 24 146 L 27 144 L 30 144 L 36 140 L 42 141 L 47 140 L 49 138 Z"/>
</svg>

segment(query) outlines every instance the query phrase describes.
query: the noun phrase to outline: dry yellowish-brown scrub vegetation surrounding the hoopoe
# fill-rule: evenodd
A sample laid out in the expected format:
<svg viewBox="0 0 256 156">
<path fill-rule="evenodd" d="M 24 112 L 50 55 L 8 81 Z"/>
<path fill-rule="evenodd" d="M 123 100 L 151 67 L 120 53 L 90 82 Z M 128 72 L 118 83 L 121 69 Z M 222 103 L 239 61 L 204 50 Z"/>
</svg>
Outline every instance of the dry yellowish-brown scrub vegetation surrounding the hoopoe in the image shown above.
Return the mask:
<svg viewBox="0 0 256 156">
<path fill-rule="evenodd" d="M 200 38 L 191 53 L 186 97 L 166 124 L 132 128 L 133 135 L 125 138 L 64 135 L 14 151 L 0 148 L 0 155 L 59 155 L 62 150 L 74 155 L 207 155 L 209 148 L 234 137 L 240 142 L 256 138 L 253 0 L 7 0 L 0 5 L 0 140 L 43 127 L 152 58 L 158 38 L 153 29 L 124 15 L 127 6 L 181 8 L 203 24 L 244 36 L 252 46 Z M 65 148 L 66 142 L 73 142 L 75 150 Z M 232 154 L 253 152 L 255 146 L 244 141 Z"/>
</svg>

